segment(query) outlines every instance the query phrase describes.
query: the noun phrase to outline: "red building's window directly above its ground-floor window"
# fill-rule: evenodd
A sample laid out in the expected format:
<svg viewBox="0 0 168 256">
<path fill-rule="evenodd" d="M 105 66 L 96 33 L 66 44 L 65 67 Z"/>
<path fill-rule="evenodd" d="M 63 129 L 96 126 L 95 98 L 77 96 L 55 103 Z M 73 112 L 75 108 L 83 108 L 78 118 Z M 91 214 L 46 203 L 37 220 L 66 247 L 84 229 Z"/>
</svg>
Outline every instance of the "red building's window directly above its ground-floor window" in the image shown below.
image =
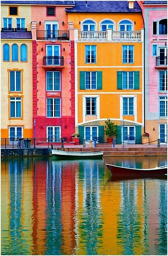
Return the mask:
<svg viewBox="0 0 168 256">
<path fill-rule="evenodd" d="M 61 99 L 47 98 L 47 117 L 61 116 Z"/>
</svg>

